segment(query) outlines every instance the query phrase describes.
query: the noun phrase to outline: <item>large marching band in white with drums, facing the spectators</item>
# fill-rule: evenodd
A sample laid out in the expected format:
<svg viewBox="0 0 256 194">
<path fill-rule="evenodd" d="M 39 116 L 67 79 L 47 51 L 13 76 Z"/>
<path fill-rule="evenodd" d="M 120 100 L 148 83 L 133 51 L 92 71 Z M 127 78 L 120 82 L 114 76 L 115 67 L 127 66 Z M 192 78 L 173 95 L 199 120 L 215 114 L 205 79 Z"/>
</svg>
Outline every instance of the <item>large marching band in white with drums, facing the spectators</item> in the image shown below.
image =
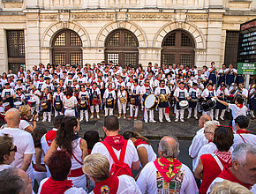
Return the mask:
<svg viewBox="0 0 256 194">
<path fill-rule="evenodd" d="M 139 109 L 145 123 L 155 123 L 154 111 L 159 122 L 171 122 L 173 112 L 175 122 L 198 119 L 198 112 L 215 120 L 224 120 L 227 107 L 220 101 L 232 102 L 237 96 L 248 103 L 247 111 L 253 118 L 256 102 L 256 85 L 252 80 L 249 88 L 244 87 L 243 75 L 238 75 L 232 64 L 222 65 L 221 70 L 204 66 L 198 70 L 182 64 L 152 65 L 146 69 L 113 63 L 82 65 L 34 65 L 33 70 L 20 67 L 17 74 L 3 73 L 0 78 L 0 111 L 19 108 L 28 104 L 35 113 L 42 112 L 42 122 L 51 121 L 54 116 L 77 116 L 80 121 L 100 118 L 100 110 L 105 116 L 112 116 L 117 109 L 118 118 L 137 120 Z M 220 101 L 216 101 L 216 98 Z M 173 111 L 170 111 L 173 108 Z M 89 112 L 91 116 L 89 116 Z M 37 118 L 38 119 L 38 118 Z"/>
</svg>

